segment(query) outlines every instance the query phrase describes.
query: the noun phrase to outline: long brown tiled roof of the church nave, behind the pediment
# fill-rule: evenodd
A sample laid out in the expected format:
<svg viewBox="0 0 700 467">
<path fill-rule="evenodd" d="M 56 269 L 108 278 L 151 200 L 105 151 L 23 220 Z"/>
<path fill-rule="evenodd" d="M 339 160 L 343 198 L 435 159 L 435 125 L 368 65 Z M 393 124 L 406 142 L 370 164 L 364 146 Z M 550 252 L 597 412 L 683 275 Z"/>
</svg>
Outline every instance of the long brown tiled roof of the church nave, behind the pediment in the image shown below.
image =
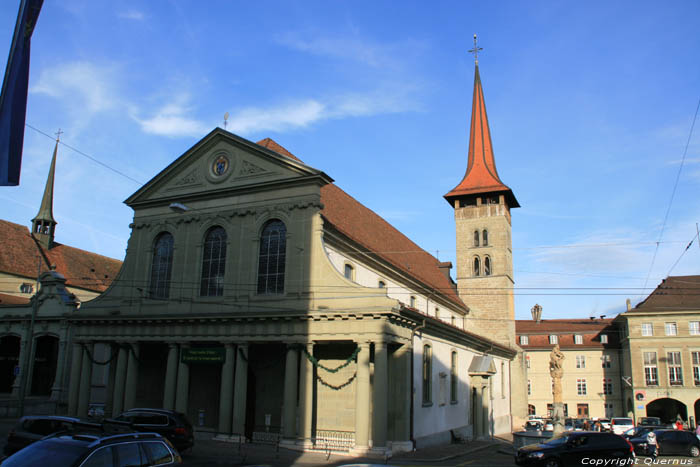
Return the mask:
<svg viewBox="0 0 700 467">
<path fill-rule="evenodd" d="M 270 138 L 257 144 L 300 161 Z M 374 211 L 348 195 L 333 183 L 321 187 L 323 218 L 335 229 L 357 242 L 382 260 L 431 289 L 460 308 L 464 302 L 447 276 L 440 270 L 440 261 L 416 245 Z"/>
</svg>

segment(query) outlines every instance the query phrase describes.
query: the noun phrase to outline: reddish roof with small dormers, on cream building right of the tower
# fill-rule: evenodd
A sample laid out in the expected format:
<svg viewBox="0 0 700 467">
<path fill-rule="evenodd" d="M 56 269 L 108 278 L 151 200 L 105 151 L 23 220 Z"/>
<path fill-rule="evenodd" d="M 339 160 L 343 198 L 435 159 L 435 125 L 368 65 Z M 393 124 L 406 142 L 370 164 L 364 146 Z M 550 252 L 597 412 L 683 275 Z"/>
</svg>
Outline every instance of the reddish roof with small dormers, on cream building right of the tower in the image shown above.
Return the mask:
<svg viewBox="0 0 700 467">
<path fill-rule="evenodd" d="M 618 329 L 613 319 L 543 319 L 539 323 L 533 320 L 516 320 L 515 334 L 527 336 L 528 343 L 520 344 L 523 348 L 552 348 L 549 336 L 556 334 L 561 348 L 580 347 L 617 347 L 619 346 Z M 608 336 L 608 343 L 600 341 L 600 335 Z M 574 335 L 582 337 L 582 343 L 576 344 Z M 520 342 L 520 340 L 518 340 Z"/>
</svg>

